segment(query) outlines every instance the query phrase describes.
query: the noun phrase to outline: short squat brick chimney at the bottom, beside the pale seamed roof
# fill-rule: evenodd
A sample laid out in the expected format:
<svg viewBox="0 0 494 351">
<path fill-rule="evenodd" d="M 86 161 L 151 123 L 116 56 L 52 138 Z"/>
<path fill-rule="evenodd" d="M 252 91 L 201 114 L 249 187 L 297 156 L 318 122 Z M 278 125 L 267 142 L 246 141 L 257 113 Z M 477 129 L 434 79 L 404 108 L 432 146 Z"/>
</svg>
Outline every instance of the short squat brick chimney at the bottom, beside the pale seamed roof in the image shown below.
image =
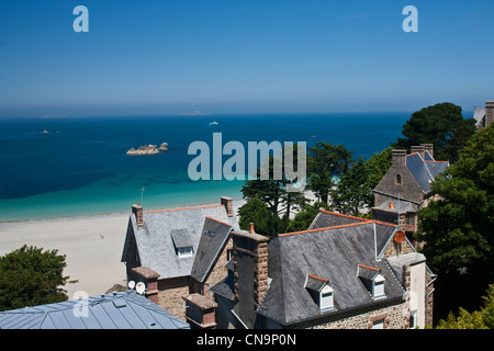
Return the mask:
<svg viewBox="0 0 494 351">
<path fill-rule="evenodd" d="M 215 329 L 217 304 L 201 294 L 182 296 L 186 301 L 186 319 L 191 329 Z"/>
</svg>

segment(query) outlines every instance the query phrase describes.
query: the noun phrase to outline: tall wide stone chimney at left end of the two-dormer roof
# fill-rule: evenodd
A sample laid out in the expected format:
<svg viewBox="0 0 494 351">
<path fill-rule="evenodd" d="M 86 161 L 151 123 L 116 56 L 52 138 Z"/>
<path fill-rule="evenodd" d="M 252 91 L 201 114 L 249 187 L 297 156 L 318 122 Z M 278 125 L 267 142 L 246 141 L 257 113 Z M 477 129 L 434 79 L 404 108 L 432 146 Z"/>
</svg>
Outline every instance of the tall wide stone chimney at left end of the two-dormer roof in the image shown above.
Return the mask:
<svg viewBox="0 0 494 351">
<path fill-rule="evenodd" d="M 232 231 L 232 238 L 235 299 L 240 309 L 255 310 L 268 288 L 268 238 L 246 230 Z"/>
</svg>

